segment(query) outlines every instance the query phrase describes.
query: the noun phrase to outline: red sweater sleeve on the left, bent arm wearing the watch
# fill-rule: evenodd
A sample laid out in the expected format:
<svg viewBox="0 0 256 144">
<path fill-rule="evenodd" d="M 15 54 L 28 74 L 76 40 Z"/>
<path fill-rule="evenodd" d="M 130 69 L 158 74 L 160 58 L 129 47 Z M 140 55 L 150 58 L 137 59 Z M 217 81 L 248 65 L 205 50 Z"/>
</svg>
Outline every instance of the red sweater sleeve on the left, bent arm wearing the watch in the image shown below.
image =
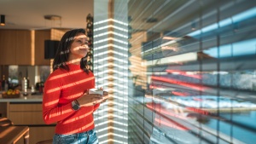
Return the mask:
<svg viewBox="0 0 256 144">
<path fill-rule="evenodd" d="M 44 84 L 43 118 L 45 124 L 52 124 L 70 116 L 74 111 L 71 103 L 58 106 L 61 96 L 61 86 L 54 80 Z"/>
</svg>

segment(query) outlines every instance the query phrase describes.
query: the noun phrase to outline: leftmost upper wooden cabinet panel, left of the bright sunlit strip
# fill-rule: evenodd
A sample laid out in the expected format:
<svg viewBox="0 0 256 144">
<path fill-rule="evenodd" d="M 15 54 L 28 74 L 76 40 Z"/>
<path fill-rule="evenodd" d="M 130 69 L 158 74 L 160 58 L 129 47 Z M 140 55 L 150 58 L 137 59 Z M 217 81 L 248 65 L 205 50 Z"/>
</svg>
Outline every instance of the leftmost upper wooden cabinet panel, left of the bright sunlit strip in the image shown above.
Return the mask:
<svg viewBox="0 0 256 144">
<path fill-rule="evenodd" d="M 0 65 L 32 65 L 31 31 L 0 31 Z"/>
</svg>

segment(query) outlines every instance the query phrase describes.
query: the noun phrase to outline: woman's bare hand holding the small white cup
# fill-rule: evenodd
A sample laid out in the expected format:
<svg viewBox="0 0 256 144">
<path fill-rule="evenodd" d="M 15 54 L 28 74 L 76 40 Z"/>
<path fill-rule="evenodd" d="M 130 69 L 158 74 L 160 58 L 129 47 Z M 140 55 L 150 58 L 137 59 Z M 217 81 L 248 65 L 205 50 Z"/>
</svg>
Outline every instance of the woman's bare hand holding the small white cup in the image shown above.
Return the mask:
<svg viewBox="0 0 256 144">
<path fill-rule="evenodd" d="M 84 94 L 77 99 L 80 107 L 94 106 L 97 103 L 101 103 L 103 100 L 102 95 L 98 94 Z"/>
</svg>

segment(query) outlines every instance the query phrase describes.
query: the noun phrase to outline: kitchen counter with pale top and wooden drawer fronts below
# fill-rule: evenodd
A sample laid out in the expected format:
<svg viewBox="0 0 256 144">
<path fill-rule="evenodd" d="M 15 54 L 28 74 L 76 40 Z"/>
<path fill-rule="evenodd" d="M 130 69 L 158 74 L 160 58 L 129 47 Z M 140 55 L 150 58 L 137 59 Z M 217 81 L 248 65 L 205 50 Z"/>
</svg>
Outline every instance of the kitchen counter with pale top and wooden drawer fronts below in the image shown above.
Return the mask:
<svg viewBox="0 0 256 144">
<path fill-rule="evenodd" d="M 0 97 L 0 117 L 8 118 L 15 126 L 28 126 L 29 143 L 52 139 L 52 135 L 55 134 L 55 124 L 44 123 L 42 94 L 21 94 L 19 98 L 2 98 L 0 94 Z"/>
</svg>

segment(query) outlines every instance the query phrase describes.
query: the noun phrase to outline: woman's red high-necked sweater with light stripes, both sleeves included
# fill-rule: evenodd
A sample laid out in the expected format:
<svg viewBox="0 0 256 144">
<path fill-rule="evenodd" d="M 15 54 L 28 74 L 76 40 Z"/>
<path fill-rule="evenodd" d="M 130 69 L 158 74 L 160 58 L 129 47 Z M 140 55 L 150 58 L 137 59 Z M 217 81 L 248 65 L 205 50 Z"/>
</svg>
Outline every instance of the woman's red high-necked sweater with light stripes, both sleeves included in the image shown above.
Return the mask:
<svg viewBox="0 0 256 144">
<path fill-rule="evenodd" d="M 57 69 L 44 84 L 43 117 L 46 124 L 56 123 L 56 134 L 74 134 L 94 129 L 93 112 L 99 104 L 80 107 L 74 111 L 71 102 L 88 89 L 95 88 L 92 72 L 88 74 L 80 65 L 69 64 L 69 72 Z"/>
</svg>

